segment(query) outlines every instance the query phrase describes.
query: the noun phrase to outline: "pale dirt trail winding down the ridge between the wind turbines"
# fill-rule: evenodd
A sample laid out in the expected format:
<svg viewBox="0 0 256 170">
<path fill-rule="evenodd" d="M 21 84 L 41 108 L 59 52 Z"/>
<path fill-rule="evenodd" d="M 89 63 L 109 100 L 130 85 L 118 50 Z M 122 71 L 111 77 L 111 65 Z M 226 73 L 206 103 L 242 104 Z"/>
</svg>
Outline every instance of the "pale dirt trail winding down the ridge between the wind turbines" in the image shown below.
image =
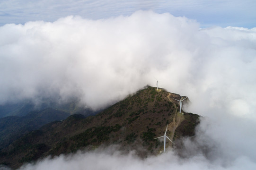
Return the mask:
<svg viewBox="0 0 256 170">
<path fill-rule="evenodd" d="M 171 95 L 171 93 L 168 94 L 167 98 L 169 99 L 170 102 L 172 102 L 172 100 L 170 99 L 170 95 Z M 170 131 L 171 131 L 171 136 L 170 136 L 171 140 L 173 140 L 176 128 L 180 125 L 182 120 L 184 120 L 184 116 L 182 114 L 177 113 L 178 110 L 177 110 L 176 104 L 174 102 L 172 102 L 172 103 L 175 106 L 176 112 L 175 112 L 173 121 L 170 123 L 170 126 L 168 127 L 168 129 L 170 129 Z M 176 121 L 176 117 L 177 117 L 177 121 Z M 172 143 L 171 143 L 171 145 L 172 145 Z"/>
</svg>

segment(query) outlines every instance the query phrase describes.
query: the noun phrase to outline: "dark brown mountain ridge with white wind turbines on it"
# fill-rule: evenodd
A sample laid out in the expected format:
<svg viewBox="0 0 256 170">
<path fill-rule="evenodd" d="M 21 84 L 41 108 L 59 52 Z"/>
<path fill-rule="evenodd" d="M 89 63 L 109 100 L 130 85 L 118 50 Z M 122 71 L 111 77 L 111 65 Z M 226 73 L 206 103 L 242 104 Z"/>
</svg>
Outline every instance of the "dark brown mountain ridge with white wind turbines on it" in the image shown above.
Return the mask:
<svg viewBox="0 0 256 170">
<path fill-rule="evenodd" d="M 167 124 L 167 135 L 176 142 L 183 136 L 194 136 L 198 123 L 198 115 L 179 113 L 179 103 L 173 98 L 181 96 L 147 86 L 96 116 L 71 115 L 51 122 L 2 149 L 0 163 L 18 168 L 47 155 L 90 150 L 101 144 L 121 144 L 124 150 L 136 149 L 142 157 L 158 154 L 163 143 L 152 139 L 162 136 Z M 186 102 L 188 99 L 183 104 Z"/>
</svg>

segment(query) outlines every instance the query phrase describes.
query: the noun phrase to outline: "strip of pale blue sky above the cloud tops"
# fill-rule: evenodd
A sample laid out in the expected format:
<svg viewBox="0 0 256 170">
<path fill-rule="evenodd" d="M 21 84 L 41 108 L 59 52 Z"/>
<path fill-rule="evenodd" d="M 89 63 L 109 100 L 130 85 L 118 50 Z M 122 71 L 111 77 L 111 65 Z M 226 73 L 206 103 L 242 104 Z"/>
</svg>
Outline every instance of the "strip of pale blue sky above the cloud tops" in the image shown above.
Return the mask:
<svg viewBox="0 0 256 170">
<path fill-rule="evenodd" d="M 256 27 L 255 0 L 1 0 L 0 26 L 28 21 L 53 22 L 60 17 L 102 19 L 130 16 L 137 10 L 187 17 L 200 26 Z"/>
</svg>

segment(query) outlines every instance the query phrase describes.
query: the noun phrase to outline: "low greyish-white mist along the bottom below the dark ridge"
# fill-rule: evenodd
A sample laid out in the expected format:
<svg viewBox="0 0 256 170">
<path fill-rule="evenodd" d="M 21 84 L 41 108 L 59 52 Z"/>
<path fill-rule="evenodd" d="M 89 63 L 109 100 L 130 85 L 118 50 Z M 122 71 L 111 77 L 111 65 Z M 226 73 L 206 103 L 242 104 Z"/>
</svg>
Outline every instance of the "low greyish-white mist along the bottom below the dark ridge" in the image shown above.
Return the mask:
<svg viewBox="0 0 256 170">
<path fill-rule="evenodd" d="M 141 160 L 134 152 L 122 154 L 106 148 L 104 152 L 96 150 L 74 155 L 60 155 L 53 159 L 46 158 L 36 164 L 26 164 L 19 170 L 254 170 L 256 163 L 246 157 L 240 157 L 228 165 L 207 160 L 203 155 L 190 159 L 178 159 L 173 152 L 163 153 Z"/>
</svg>

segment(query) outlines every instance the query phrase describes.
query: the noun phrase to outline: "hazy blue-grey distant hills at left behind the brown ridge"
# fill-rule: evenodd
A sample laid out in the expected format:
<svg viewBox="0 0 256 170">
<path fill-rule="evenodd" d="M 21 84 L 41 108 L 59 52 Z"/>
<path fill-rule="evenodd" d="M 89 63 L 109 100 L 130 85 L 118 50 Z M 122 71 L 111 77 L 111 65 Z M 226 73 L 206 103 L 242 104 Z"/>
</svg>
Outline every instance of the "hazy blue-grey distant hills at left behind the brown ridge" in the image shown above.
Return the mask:
<svg viewBox="0 0 256 170">
<path fill-rule="evenodd" d="M 66 119 L 71 114 L 83 114 L 87 117 L 96 113 L 80 106 L 78 100 L 63 103 L 49 100 L 40 105 L 24 100 L 0 105 L 0 150 L 51 121 Z"/>
</svg>

